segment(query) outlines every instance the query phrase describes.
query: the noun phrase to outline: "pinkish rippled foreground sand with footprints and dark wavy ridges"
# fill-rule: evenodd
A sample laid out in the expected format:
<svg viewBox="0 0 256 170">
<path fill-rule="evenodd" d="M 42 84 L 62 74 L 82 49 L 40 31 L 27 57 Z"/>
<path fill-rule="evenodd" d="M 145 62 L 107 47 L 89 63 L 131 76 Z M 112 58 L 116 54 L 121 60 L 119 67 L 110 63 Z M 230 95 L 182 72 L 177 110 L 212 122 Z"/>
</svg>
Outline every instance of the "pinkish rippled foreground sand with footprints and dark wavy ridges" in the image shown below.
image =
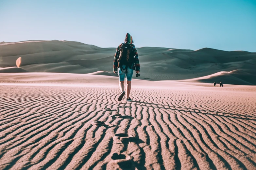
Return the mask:
<svg viewBox="0 0 256 170">
<path fill-rule="evenodd" d="M 255 92 L 118 93 L 1 86 L 0 169 L 256 169 Z"/>
</svg>

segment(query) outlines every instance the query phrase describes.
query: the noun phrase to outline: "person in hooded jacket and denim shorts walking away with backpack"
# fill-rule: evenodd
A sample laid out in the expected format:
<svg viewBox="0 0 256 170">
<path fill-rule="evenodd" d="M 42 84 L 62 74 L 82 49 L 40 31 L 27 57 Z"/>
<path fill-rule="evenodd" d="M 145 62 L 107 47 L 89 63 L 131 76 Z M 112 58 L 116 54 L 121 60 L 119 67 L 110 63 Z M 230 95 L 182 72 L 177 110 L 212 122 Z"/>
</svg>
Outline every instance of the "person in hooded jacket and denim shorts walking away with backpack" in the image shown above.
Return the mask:
<svg viewBox="0 0 256 170">
<path fill-rule="evenodd" d="M 119 77 L 119 87 L 121 93 L 118 97 L 118 101 L 123 99 L 126 93 L 126 101 L 132 101 L 129 97 L 131 91 L 131 77 L 135 70 L 138 74 L 140 72 L 140 63 L 138 58 L 138 52 L 135 46 L 132 44 L 132 36 L 127 33 L 125 37 L 125 43 L 120 44 L 115 52 L 113 72 Z M 126 92 L 125 88 L 125 75 L 126 75 Z"/>
</svg>

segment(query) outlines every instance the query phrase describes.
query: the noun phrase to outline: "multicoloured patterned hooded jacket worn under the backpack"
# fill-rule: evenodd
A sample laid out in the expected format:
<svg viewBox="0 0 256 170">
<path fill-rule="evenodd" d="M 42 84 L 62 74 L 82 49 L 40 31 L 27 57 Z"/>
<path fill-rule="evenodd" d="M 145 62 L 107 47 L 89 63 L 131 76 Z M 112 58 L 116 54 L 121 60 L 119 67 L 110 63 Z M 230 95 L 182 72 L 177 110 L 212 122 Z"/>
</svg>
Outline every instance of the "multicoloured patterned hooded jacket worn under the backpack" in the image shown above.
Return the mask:
<svg viewBox="0 0 256 170">
<path fill-rule="evenodd" d="M 132 47 L 133 53 L 135 55 L 134 64 L 133 64 L 133 70 L 140 71 L 140 62 L 139 62 L 138 52 L 137 52 L 135 46 L 132 44 L 132 36 L 129 35 L 129 33 L 126 34 L 125 43 L 132 45 L 131 47 Z M 117 57 L 118 57 L 118 53 L 119 53 L 121 45 L 122 44 L 120 44 L 117 47 L 116 51 L 115 51 L 115 57 L 114 57 L 114 63 L 113 63 L 113 71 L 116 71 L 118 69 Z"/>
</svg>

